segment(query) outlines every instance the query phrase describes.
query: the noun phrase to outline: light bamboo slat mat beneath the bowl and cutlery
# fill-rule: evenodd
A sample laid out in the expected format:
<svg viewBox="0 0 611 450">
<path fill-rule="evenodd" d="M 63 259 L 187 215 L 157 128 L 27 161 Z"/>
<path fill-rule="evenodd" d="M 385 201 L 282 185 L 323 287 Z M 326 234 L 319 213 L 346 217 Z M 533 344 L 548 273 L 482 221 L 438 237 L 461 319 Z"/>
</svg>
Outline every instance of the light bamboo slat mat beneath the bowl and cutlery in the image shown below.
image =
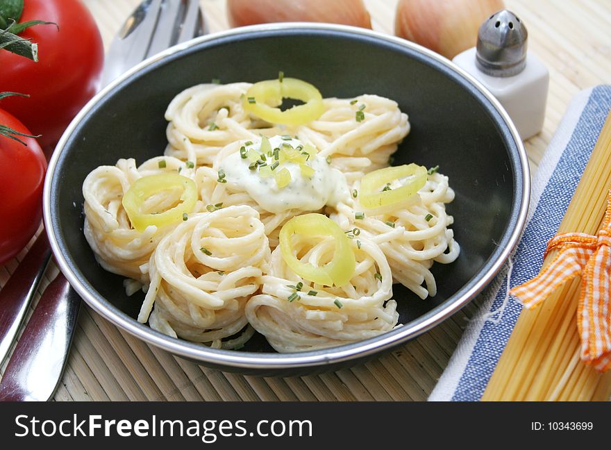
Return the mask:
<svg viewBox="0 0 611 450">
<path fill-rule="evenodd" d="M 84 1 L 97 19 L 108 47 L 140 0 Z M 374 29 L 392 33 L 396 0 L 365 0 L 365 3 Z M 611 3 L 607 0 L 505 0 L 505 3 L 524 19 L 530 50 L 550 69 L 544 130 L 526 142 L 534 171 L 574 94 L 592 85 L 611 83 Z M 201 6 L 210 32 L 228 27 L 224 0 L 201 0 Z M 0 267 L 0 287 L 24 253 Z M 56 273 L 56 267 L 49 267 L 41 292 Z M 433 390 L 477 304 L 476 299 L 440 326 L 369 363 L 339 372 L 292 378 L 241 376 L 198 366 L 149 347 L 84 306 L 55 399 L 422 401 Z"/>
</svg>

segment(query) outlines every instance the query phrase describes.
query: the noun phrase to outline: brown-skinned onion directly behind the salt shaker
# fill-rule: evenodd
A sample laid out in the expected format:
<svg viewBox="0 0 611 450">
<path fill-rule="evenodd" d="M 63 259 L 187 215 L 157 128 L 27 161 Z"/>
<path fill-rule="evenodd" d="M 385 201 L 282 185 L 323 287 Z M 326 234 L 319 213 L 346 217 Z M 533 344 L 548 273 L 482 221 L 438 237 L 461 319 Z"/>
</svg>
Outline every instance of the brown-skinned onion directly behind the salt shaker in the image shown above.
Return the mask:
<svg viewBox="0 0 611 450">
<path fill-rule="evenodd" d="M 503 0 L 400 0 L 394 33 L 451 59 L 475 47 L 480 25 L 503 8 Z"/>
</svg>

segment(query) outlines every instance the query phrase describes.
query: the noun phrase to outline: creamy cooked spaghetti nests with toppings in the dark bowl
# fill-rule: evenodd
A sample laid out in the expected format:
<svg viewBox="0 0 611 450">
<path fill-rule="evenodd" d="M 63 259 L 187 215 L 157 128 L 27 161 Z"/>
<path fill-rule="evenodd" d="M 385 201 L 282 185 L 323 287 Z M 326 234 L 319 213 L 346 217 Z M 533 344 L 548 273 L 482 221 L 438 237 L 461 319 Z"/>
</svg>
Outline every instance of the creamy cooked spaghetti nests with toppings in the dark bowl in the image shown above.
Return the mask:
<svg viewBox="0 0 611 450">
<path fill-rule="evenodd" d="M 281 76 L 194 86 L 165 117 L 165 155 L 83 183 L 87 242 L 146 292 L 151 328 L 224 349 L 254 331 L 281 352 L 355 342 L 399 326 L 393 283 L 434 296 L 433 263 L 458 257 L 448 178 L 389 167 L 410 131 L 390 99 Z"/>
</svg>

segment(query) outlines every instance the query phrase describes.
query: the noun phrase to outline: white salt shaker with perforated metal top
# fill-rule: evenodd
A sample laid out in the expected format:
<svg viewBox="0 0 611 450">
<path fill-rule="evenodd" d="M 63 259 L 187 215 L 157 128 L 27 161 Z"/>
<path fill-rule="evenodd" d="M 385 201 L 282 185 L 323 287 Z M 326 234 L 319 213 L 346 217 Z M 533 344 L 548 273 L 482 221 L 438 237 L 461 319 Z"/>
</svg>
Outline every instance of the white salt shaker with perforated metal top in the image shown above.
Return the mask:
<svg viewBox="0 0 611 450">
<path fill-rule="evenodd" d="M 523 140 L 543 128 L 549 72 L 526 51 L 526 26 L 510 10 L 495 12 L 478 32 L 477 47 L 453 59 L 499 99 Z"/>
</svg>

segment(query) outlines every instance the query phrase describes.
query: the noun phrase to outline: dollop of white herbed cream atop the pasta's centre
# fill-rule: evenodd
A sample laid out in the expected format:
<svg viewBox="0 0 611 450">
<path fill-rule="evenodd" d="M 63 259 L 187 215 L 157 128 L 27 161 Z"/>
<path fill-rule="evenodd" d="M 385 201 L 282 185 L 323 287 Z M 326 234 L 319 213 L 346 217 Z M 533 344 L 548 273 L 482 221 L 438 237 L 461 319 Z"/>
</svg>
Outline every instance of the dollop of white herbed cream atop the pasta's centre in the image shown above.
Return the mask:
<svg viewBox="0 0 611 450">
<path fill-rule="evenodd" d="M 297 139 L 274 136 L 269 138 L 271 149 L 282 148 L 283 144 L 291 147 L 303 147 Z M 254 149 L 260 152 L 261 139 L 253 141 L 247 150 Z M 268 158 L 269 159 L 269 158 Z M 283 213 L 287 210 L 317 211 L 324 206 L 337 206 L 338 203 L 349 201 L 349 188 L 346 177 L 342 172 L 331 167 L 326 159 L 317 155 L 310 156 L 308 166 L 314 169 L 311 178 L 301 173 L 299 164 L 285 161 L 276 167 L 275 171 L 286 168 L 291 174 L 290 183 L 284 188 L 278 188 L 274 176 L 263 178 L 258 169 L 249 169 L 251 160 L 242 158 L 240 152 L 227 156 L 221 169 L 224 170 L 229 183 L 242 188 L 270 213 Z"/>
</svg>

